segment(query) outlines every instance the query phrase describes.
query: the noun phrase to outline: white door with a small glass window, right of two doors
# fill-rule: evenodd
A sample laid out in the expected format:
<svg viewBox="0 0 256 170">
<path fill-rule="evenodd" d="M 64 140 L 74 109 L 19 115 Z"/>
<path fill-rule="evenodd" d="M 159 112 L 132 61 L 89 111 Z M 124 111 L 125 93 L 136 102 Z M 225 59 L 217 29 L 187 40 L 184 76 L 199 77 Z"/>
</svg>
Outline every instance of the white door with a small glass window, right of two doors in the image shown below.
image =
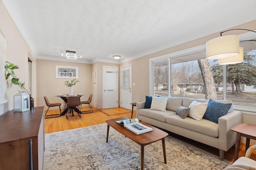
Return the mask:
<svg viewBox="0 0 256 170">
<path fill-rule="evenodd" d="M 121 67 L 121 107 L 132 109 L 132 65 Z"/>
</svg>

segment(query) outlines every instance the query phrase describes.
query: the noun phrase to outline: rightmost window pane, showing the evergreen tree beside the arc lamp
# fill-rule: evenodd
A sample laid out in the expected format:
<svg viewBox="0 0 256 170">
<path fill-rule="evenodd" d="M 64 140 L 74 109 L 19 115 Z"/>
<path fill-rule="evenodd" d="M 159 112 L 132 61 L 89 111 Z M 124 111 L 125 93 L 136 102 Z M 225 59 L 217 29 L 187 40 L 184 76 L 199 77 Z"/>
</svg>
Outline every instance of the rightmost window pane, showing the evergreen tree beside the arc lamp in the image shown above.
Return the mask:
<svg viewBox="0 0 256 170">
<path fill-rule="evenodd" d="M 256 50 L 244 51 L 244 62 L 226 65 L 227 99 L 234 104 L 255 106 Z"/>
</svg>

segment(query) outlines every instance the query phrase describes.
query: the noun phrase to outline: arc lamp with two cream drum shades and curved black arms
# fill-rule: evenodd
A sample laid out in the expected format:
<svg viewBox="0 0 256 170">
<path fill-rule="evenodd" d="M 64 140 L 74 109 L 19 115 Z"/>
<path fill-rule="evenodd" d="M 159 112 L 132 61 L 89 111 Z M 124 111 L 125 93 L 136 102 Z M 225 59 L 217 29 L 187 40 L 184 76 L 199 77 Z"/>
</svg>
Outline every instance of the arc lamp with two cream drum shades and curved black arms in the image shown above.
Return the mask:
<svg viewBox="0 0 256 170">
<path fill-rule="evenodd" d="M 247 30 L 249 29 L 230 29 L 232 30 Z M 206 42 L 206 58 L 207 59 L 219 59 L 219 64 L 236 64 L 244 61 L 243 48 L 239 47 L 238 35 L 226 35 L 222 36 L 223 31 L 220 33 L 220 37 L 211 39 Z M 256 31 L 252 31 L 255 32 Z"/>
</svg>

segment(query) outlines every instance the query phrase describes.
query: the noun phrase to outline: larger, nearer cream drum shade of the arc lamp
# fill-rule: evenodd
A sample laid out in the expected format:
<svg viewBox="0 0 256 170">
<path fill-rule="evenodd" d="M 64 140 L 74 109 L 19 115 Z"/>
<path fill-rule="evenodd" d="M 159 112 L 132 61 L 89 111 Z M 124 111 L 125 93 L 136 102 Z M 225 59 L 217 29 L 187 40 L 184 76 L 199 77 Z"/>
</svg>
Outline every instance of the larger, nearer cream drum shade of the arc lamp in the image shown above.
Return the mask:
<svg viewBox="0 0 256 170">
<path fill-rule="evenodd" d="M 206 42 L 207 59 L 225 59 L 239 55 L 239 36 L 225 35 Z"/>
</svg>

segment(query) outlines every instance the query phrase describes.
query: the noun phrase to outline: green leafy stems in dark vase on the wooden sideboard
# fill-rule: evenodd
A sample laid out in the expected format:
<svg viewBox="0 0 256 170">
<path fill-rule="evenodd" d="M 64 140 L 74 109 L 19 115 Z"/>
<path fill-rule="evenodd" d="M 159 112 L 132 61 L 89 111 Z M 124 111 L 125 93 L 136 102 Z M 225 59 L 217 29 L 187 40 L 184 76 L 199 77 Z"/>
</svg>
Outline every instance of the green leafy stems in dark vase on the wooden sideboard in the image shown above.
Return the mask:
<svg viewBox="0 0 256 170">
<path fill-rule="evenodd" d="M 29 94 L 28 90 L 25 88 L 25 83 L 20 82 L 20 79 L 14 73 L 14 70 L 18 69 L 19 67 L 17 65 L 14 65 L 13 63 L 6 61 L 4 68 L 6 70 L 5 80 L 7 80 L 10 76 L 12 76 L 12 80 L 11 80 L 12 84 L 18 85 L 22 89 L 22 91 L 26 92 L 26 94 Z M 22 93 L 22 91 L 19 91 L 19 92 Z M 31 97 L 31 94 L 29 94 L 29 97 L 30 97 L 30 109 L 34 109 L 34 99 Z"/>
</svg>

